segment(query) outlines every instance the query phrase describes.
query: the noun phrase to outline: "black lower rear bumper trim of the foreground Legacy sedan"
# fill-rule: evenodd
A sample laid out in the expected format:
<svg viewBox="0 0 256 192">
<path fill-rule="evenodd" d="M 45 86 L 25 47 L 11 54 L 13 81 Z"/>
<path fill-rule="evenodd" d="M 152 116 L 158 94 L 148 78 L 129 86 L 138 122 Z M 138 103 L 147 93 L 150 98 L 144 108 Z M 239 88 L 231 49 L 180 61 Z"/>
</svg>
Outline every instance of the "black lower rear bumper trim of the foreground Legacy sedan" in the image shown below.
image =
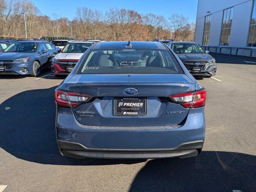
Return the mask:
<svg viewBox="0 0 256 192">
<path fill-rule="evenodd" d="M 60 154 L 73 158 L 152 159 L 197 156 L 202 150 L 204 141 L 182 143 L 175 148 L 168 149 L 103 149 L 87 148 L 76 142 L 62 140 L 58 140 L 57 143 Z"/>
</svg>

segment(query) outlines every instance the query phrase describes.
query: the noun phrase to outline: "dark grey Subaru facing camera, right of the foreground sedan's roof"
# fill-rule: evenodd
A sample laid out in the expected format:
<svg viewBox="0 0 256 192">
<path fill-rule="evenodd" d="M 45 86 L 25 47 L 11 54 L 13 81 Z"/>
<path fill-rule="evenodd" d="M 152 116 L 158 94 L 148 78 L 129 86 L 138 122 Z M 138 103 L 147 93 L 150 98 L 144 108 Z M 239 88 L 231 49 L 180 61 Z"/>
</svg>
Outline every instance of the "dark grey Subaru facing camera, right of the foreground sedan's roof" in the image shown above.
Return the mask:
<svg viewBox="0 0 256 192">
<path fill-rule="evenodd" d="M 167 44 L 180 58 L 193 76 L 211 77 L 216 74 L 215 59 L 209 51 L 195 42 L 170 42 Z"/>
</svg>

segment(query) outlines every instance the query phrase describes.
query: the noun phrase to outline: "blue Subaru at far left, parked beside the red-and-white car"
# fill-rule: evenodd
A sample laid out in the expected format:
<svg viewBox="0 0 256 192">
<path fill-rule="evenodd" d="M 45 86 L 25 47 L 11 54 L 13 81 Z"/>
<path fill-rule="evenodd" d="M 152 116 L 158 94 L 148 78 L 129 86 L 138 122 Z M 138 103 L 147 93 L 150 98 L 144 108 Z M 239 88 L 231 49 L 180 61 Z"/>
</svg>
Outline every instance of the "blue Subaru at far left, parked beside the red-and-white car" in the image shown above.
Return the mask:
<svg viewBox="0 0 256 192">
<path fill-rule="evenodd" d="M 40 75 L 59 48 L 47 41 L 16 41 L 0 53 L 0 75 Z"/>
</svg>

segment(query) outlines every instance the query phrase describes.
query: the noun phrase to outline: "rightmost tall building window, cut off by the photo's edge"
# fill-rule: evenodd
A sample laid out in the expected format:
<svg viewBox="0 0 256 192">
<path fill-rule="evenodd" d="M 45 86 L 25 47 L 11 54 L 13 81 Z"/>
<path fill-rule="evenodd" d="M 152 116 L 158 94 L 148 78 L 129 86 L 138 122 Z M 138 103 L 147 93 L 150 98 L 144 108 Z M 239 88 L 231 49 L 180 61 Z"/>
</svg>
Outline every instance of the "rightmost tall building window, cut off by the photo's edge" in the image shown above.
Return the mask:
<svg viewBox="0 0 256 192">
<path fill-rule="evenodd" d="M 255 0 L 254 0 L 254 4 L 252 7 L 252 18 L 251 18 L 247 46 L 248 47 L 256 47 L 256 1 Z"/>
</svg>

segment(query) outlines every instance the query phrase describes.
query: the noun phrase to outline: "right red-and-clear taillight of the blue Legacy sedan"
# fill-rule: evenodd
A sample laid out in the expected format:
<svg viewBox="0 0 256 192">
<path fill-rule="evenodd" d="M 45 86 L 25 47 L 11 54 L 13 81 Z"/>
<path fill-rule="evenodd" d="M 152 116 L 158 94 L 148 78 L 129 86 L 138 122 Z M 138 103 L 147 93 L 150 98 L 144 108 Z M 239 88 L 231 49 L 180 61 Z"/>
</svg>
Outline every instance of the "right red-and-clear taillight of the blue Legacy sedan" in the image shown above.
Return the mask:
<svg viewBox="0 0 256 192">
<path fill-rule="evenodd" d="M 170 98 L 175 103 L 179 103 L 186 108 L 202 107 L 206 101 L 206 90 L 172 95 Z"/>
</svg>

